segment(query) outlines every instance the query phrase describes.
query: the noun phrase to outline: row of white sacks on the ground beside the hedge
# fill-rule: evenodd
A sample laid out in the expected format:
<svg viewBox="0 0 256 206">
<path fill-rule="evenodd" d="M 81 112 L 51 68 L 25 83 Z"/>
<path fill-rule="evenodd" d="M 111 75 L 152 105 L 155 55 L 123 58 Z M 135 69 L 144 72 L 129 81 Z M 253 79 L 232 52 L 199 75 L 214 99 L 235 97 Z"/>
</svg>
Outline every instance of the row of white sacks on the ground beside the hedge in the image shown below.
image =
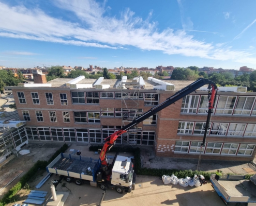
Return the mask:
<svg viewBox="0 0 256 206">
<path fill-rule="evenodd" d="M 200 175 L 197 176 L 197 175 L 194 175 L 193 179 L 191 177 L 186 177 L 186 178 L 180 178 L 178 179 L 175 175 L 172 175 L 171 177 L 168 176 L 168 175 L 163 175 L 162 176 L 162 180 L 163 180 L 163 183 L 164 184 L 178 184 L 179 185 L 182 185 L 184 187 L 187 187 L 188 185 L 189 186 L 200 186 L 200 180 L 199 178 L 201 178 L 202 180 L 204 180 L 204 176 Z"/>
</svg>

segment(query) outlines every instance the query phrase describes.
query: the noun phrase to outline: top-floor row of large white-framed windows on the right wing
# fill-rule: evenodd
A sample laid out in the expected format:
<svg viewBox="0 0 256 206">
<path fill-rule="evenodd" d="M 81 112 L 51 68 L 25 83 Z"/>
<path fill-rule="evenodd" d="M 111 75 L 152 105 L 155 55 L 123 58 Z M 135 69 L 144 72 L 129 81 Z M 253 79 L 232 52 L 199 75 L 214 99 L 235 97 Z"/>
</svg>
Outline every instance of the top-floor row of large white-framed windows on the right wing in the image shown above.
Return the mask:
<svg viewBox="0 0 256 206">
<path fill-rule="evenodd" d="M 256 115 L 253 96 L 218 96 L 214 114 Z M 208 96 L 187 95 L 183 97 L 181 113 L 203 114 L 207 112 Z"/>
</svg>

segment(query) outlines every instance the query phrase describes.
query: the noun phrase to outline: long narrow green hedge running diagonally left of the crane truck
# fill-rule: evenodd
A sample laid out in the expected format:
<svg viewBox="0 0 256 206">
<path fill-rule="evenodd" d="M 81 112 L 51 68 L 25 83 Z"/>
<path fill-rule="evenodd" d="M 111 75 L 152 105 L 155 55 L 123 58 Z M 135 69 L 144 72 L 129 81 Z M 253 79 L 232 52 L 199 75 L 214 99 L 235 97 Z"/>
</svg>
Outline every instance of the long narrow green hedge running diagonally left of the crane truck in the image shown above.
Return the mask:
<svg viewBox="0 0 256 206">
<path fill-rule="evenodd" d="M 51 161 L 53 161 L 61 152 L 65 152 L 68 149 L 68 145 L 64 144 L 61 148 L 59 148 L 53 156 L 48 161 L 38 160 L 27 172 L 23 175 L 19 182 L 16 185 L 11 187 L 11 189 L 3 196 L 0 200 L 0 206 L 5 206 L 10 202 L 15 201 L 15 195 L 25 186 L 25 184 L 31 180 L 38 170 L 45 169 Z"/>
</svg>

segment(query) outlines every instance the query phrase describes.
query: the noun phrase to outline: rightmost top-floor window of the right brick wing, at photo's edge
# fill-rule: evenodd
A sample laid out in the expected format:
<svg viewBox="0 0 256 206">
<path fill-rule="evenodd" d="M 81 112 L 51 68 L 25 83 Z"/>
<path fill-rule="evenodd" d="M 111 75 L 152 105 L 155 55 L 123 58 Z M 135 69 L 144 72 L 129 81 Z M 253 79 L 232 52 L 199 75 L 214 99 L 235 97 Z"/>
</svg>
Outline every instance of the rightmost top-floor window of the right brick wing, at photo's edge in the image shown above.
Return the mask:
<svg viewBox="0 0 256 206">
<path fill-rule="evenodd" d="M 250 115 L 255 97 L 239 96 L 234 114 Z"/>
</svg>

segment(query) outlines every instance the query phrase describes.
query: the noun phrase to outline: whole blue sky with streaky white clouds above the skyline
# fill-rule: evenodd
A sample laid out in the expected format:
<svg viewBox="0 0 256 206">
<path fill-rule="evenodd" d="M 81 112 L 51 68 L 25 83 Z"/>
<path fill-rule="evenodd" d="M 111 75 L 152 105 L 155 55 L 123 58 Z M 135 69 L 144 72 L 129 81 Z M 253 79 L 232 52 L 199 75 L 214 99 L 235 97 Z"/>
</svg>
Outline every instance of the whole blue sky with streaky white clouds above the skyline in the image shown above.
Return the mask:
<svg viewBox="0 0 256 206">
<path fill-rule="evenodd" d="M 0 0 L 0 65 L 256 69 L 255 0 Z"/>
</svg>

